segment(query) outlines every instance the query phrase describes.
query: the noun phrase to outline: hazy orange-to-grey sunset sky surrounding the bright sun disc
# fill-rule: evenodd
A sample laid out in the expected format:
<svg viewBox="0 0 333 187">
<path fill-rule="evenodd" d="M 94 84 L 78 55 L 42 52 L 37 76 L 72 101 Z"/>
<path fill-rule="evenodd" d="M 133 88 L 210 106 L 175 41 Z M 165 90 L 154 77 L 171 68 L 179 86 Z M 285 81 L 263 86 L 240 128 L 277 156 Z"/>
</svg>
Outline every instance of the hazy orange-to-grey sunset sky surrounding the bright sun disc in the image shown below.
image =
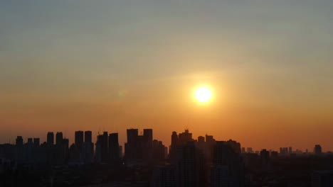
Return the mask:
<svg viewBox="0 0 333 187">
<path fill-rule="evenodd" d="M 0 1 L 0 143 L 153 128 L 333 150 L 333 1 Z M 194 89 L 211 88 L 211 102 Z"/>
</svg>

